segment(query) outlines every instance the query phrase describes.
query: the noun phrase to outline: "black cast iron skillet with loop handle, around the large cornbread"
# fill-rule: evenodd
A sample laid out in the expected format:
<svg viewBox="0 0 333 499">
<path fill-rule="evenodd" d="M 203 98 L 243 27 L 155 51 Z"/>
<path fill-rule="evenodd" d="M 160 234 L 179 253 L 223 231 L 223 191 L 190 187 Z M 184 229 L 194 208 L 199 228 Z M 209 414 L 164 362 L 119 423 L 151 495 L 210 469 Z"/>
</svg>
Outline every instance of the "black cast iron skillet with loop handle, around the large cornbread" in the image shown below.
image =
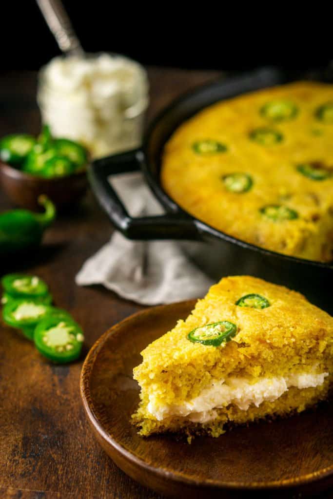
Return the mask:
<svg viewBox="0 0 333 499">
<path fill-rule="evenodd" d="M 328 79 L 323 74 L 314 79 Z M 143 147 L 96 160 L 88 171 L 91 187 L 110 220 L 132 240 L 182 240 L 184 250 L 215 279 L 249 274 L 284 284 L 333 314 L 333 264 L 286 256 L 259 248 L 213 229 L 182 210 L 162 189 L 161 152 L 173 131 L 186 119 L 214 102 L 304 78 L 277 68 L 263 68 L 203 86 L 167 107 L 153 122 Z M 120 172 L 141 169 L 166 215 L 132 218 L 108 182 Z M 135 193 L 133 193 L 135 195 Z"/>
</svg>

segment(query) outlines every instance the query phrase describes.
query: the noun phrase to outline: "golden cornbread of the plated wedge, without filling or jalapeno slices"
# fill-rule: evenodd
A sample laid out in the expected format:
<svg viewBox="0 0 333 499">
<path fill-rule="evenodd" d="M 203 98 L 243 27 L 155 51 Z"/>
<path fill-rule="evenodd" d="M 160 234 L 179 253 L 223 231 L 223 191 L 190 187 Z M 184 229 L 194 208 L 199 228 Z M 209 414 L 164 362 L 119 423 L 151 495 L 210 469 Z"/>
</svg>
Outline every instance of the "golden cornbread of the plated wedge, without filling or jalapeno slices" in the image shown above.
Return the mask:
<svg viewBox="0 0 333 499">
<path fill-rule="evenodd" d="M 244 295 L 264 296 L 270 306 L 240 307 Z M 237 334 L 219 347 L 193 343 L 187 335 L 196 327 L 227 320 Z M 301 412 L 327 397 L 333 381 L 333 317 L 312 305 L 303 295 L 251 276 L 225 277 L 198 300 L 187 319 L 147 346 L 143 362 L 134 369 L 141 387 L 141 404 L 133 422 L 141 435 L 165 431 L 223 433 L 228 422 L 243 424 L 266 416 Z M 213 423 L 195 424 L 182 417 L 158 421 L 149 411 L 149 397 L 161 405 L 190 401 L 221 378 L 279 377 L 297 373 L 328 372 L 316 388 L 291 387 L 274 402 L 251 405 L 247 411 L 230 404 L 218 409 Z"/>
</svg>

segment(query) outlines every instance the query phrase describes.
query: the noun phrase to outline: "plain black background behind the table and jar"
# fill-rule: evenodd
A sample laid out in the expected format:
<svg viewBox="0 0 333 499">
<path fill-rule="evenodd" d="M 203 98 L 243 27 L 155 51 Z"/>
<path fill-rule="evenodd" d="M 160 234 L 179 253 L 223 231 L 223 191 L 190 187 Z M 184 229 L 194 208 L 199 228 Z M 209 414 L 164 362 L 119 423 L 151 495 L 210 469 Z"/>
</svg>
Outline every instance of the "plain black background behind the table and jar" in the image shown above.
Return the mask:
<svg viewBox="0 0 333 499">
<path fill-rule="evenodd" d="M 333 58 L 329 3 L 63 1 L 86 51 L 143 64 L 248 69 L 325 66 Z M 327 6 L 325 6 L 327 5 Z M 59 49 L 34 0 L 1 4 L 2 69 L 38 69 Z"/>
</svg>

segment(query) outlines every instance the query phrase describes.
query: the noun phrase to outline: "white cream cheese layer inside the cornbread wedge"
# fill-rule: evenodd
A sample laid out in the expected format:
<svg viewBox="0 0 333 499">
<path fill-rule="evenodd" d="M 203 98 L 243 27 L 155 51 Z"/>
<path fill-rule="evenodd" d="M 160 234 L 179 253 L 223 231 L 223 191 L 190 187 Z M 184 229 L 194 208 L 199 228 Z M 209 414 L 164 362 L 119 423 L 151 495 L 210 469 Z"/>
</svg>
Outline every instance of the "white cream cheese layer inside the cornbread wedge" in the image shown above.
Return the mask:
<svg viewBox="0 0 333 499">
<path fill-rule="evenodd" d="M 207 423 L 216 417 L 214 409 L 234 404 L 247 411 L 251 404 L 259 407 L 264 401 L 274 402 L 292 386 L 300 390 L 320 386 L 328 375 L 324 372 L 261 377 L 255 383 L 251 378 L 229 377 L 212 382 L 197 397 L 179 405 L 161 405 L 154 394 L 150 394 L 148 411 L 158 421 L 170 416 L 182 416 L 195 423 Z"/>
</svg>

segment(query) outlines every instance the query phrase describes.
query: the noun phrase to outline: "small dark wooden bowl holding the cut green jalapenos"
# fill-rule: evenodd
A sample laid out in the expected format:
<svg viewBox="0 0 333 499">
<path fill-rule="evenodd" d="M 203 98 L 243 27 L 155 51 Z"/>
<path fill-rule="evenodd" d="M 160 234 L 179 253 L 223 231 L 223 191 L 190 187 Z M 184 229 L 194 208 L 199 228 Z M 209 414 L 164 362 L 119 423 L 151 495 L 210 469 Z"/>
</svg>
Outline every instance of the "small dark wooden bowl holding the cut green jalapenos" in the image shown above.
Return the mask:
<svg viewBox="0 0 333 499">
<path fill-rule="evenodd" d="M 73 175 L 44 179 L 17 170 L 0 161 L 0 183 L 9 199 L 21 208 L 40 210 L 40 194 L 53 201 L 58 210 L 77 203 L 86 192 L 88 181 L 85 169 Z"/>
</svg>

